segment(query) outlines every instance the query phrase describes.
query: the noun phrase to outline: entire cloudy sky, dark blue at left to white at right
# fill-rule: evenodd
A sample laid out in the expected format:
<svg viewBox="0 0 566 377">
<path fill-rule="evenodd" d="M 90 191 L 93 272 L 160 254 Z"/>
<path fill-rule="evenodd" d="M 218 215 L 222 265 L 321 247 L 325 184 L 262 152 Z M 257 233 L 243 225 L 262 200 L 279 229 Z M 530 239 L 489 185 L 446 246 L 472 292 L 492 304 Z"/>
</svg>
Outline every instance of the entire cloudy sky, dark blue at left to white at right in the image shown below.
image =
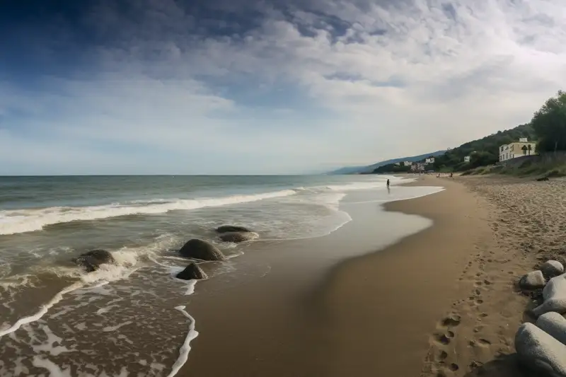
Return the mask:
<svg viewBox="0 0 566 377">
<path fill-rule="evenodd" d="M 559 89 L 564 0 L 0 1 L 0 175 L 322 172 Z"/>
</svg>

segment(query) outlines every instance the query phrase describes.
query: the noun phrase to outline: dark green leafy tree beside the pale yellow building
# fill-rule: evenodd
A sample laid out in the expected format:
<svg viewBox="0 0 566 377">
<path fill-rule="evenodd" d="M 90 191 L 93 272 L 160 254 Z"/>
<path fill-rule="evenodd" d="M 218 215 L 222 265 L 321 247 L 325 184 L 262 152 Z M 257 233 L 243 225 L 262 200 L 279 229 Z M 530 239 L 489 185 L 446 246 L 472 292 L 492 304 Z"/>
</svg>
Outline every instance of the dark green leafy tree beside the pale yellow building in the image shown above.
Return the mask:
<svg viewBox="0 0 566 377">
<path fill-rule="evenodd" d="M 546 100 L 531 120 L 538 136 L 538 151 L 566 150 L 566 92 Z"/>
</svg>

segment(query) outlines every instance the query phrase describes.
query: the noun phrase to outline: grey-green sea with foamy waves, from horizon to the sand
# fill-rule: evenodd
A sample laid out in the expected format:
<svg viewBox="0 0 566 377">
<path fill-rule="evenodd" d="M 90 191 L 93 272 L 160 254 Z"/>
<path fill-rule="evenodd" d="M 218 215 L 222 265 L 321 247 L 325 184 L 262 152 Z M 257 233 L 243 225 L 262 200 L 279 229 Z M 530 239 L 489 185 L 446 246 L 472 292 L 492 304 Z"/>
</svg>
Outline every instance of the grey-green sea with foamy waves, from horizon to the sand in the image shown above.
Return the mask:
<svg viewBox="0 0 566 377">
<path fill-rule="evenodd" d="M 322 237 L 351 221 L 340 208 L 349 192 L 385 193 L 387 179 L 392 187 L 404 181 L 0 177 L 0 376 L 175 376 L 199 336 L 187 307 L 198 286 L 175 279 L 187 265 L 178 255 L 187 240 L 207 240 L 229 257 L 207 269 L 214 279 L 245 253 L 241 244 L 221 243 L 216 227 L 246 226 L 260 240 Z M 382 201 L 434 190 L 391 190 Z M 93 249 L 109 250 L 117 264 L 91 273 L 74 265 L 73 257 Z"/>
</svg>

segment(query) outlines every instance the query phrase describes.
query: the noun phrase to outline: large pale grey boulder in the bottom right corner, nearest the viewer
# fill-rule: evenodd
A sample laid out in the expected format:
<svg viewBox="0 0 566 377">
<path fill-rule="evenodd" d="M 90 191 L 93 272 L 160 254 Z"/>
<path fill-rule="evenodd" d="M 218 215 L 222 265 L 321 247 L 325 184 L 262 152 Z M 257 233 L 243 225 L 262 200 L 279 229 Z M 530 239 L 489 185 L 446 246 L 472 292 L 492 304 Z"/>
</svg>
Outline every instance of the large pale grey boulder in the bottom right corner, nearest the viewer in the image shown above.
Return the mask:
<svg viewBox="0 0 566 377">
<path fill-rule="evenodd" d="M 566 346 L 532 323 L 519 327 L 515 349 L 519 362 L 530 369 L 553 377 L 566 376 Z"/>
</svg>

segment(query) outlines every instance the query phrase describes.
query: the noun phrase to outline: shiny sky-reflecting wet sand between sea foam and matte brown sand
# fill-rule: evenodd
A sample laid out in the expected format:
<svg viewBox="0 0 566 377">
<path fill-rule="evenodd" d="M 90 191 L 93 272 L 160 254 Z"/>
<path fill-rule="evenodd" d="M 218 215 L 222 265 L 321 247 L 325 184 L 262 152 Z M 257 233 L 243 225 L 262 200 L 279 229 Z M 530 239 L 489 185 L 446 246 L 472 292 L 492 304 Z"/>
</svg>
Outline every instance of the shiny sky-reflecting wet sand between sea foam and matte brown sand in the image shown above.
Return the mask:
<svg viewBox="0 0 566 377">
<path fill-rule="evenodd" d="M 391 197 L 403 195 L 412 194 L 392 187 Z M 385 187 L 350 192 L 340 208 L 352 221 L 342 228 L 318 238 L 251 243 L 233 260 L 233 276 L 201 282 L 188 307 L 201 336 L 179 375 L 344 376 L 334 365 L 340 336 L 333 312 L 320 310 L 329 272 L 432 225 L 422 216 L 385 213 L 379 198 L 388 197 Z M 221 364 L 214 363 L 218 354 Z"/>
</svg>

